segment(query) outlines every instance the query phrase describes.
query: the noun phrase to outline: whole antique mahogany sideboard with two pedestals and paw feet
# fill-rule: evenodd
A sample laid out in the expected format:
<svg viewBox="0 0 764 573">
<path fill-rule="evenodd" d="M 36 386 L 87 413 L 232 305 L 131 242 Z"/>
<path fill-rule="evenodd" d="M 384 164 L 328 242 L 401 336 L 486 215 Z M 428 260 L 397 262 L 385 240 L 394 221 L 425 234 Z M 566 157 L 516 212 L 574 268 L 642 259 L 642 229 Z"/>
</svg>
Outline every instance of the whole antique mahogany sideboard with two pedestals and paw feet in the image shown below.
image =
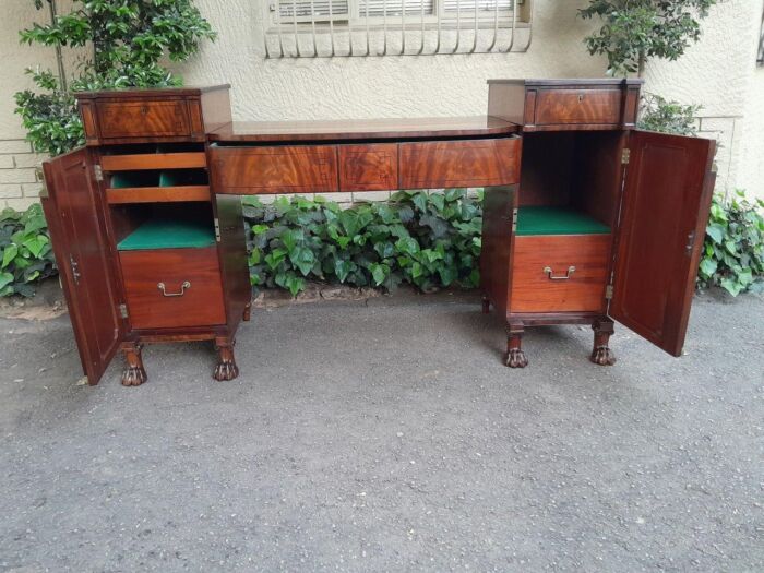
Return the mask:
<svg viewBox="0 0 764 573">
<path fill-rule="evenodd" d="M 635 129 L 640 82 L 489 82 L 467 118 L 232 122 L 229 86 L 77 94 L 83 148 L 44 164 L 43 205 L 83 370 L 145 343 L 214 341 L 238 375 L 251 289 L 242 194 L 485 189 L 484 310 L 508 324 L 613 319 L 670 354 L 684 341 L 713 189 L 714 143 Z"/>
</svg>

